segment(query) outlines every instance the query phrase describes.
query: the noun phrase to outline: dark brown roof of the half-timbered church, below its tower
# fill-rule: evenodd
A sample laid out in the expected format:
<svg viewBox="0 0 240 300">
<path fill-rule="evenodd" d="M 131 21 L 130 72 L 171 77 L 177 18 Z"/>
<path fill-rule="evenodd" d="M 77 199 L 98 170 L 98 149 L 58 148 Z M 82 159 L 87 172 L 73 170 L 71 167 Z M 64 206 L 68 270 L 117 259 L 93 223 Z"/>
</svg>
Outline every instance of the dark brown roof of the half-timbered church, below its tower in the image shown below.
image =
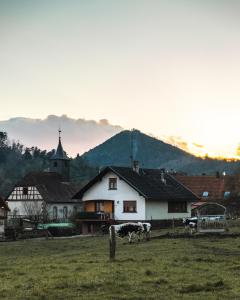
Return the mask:
<svg viewBox="0 0 240 300">
<path fill-rule="evenodd" d="M 73 184 L 63 182 L 55 172 L 28 173 L 16 186 L 35 186 L 48 203 L 74 202 L 72 196 L 77 192 Z"/>
</svg>

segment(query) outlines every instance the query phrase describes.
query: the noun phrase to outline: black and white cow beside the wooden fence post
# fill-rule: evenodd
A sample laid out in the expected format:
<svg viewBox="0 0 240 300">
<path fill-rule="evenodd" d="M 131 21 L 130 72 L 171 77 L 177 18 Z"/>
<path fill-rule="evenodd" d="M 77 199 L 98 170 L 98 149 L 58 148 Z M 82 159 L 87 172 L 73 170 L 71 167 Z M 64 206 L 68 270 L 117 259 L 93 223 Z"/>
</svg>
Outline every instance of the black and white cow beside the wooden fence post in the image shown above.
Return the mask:
<svg viewBox="0 0 240 300">
<path fill-rule="evenodd" d="M 149 238 L 151 231 L 150 223 L 123 223 L 119 225 L 112 225 L 117 236 L 124 238 L 128 236 L 129 243 L 132 242 L 133 236 L 136 235 L 138 237 L 138 241 L 140 241 L 141 235 L 145 234 L 146 238 Z"/>
</svg>

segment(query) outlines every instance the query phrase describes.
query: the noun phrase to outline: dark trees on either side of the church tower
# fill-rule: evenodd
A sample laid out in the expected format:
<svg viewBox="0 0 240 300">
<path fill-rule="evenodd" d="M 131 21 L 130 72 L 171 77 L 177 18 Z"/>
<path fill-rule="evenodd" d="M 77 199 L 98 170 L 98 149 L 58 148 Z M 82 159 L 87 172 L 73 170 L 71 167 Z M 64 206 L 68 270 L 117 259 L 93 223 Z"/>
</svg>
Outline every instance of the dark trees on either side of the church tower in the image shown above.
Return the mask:
<svg viewBox="0 0 240 300">
<path fill-rule="evenodd" d="M 6 197 L 28 172 L 48 171 L 53 153 L 54 150 L 29 148 L 19 142 L 10 142 L 7 133 L 0 132 L 0 195 Z M 71 180 L 79 186 L 98 172 L 98 168 L 90 167 L 80 156 L 73 159 L 70 165 Z"/>
</svg>

